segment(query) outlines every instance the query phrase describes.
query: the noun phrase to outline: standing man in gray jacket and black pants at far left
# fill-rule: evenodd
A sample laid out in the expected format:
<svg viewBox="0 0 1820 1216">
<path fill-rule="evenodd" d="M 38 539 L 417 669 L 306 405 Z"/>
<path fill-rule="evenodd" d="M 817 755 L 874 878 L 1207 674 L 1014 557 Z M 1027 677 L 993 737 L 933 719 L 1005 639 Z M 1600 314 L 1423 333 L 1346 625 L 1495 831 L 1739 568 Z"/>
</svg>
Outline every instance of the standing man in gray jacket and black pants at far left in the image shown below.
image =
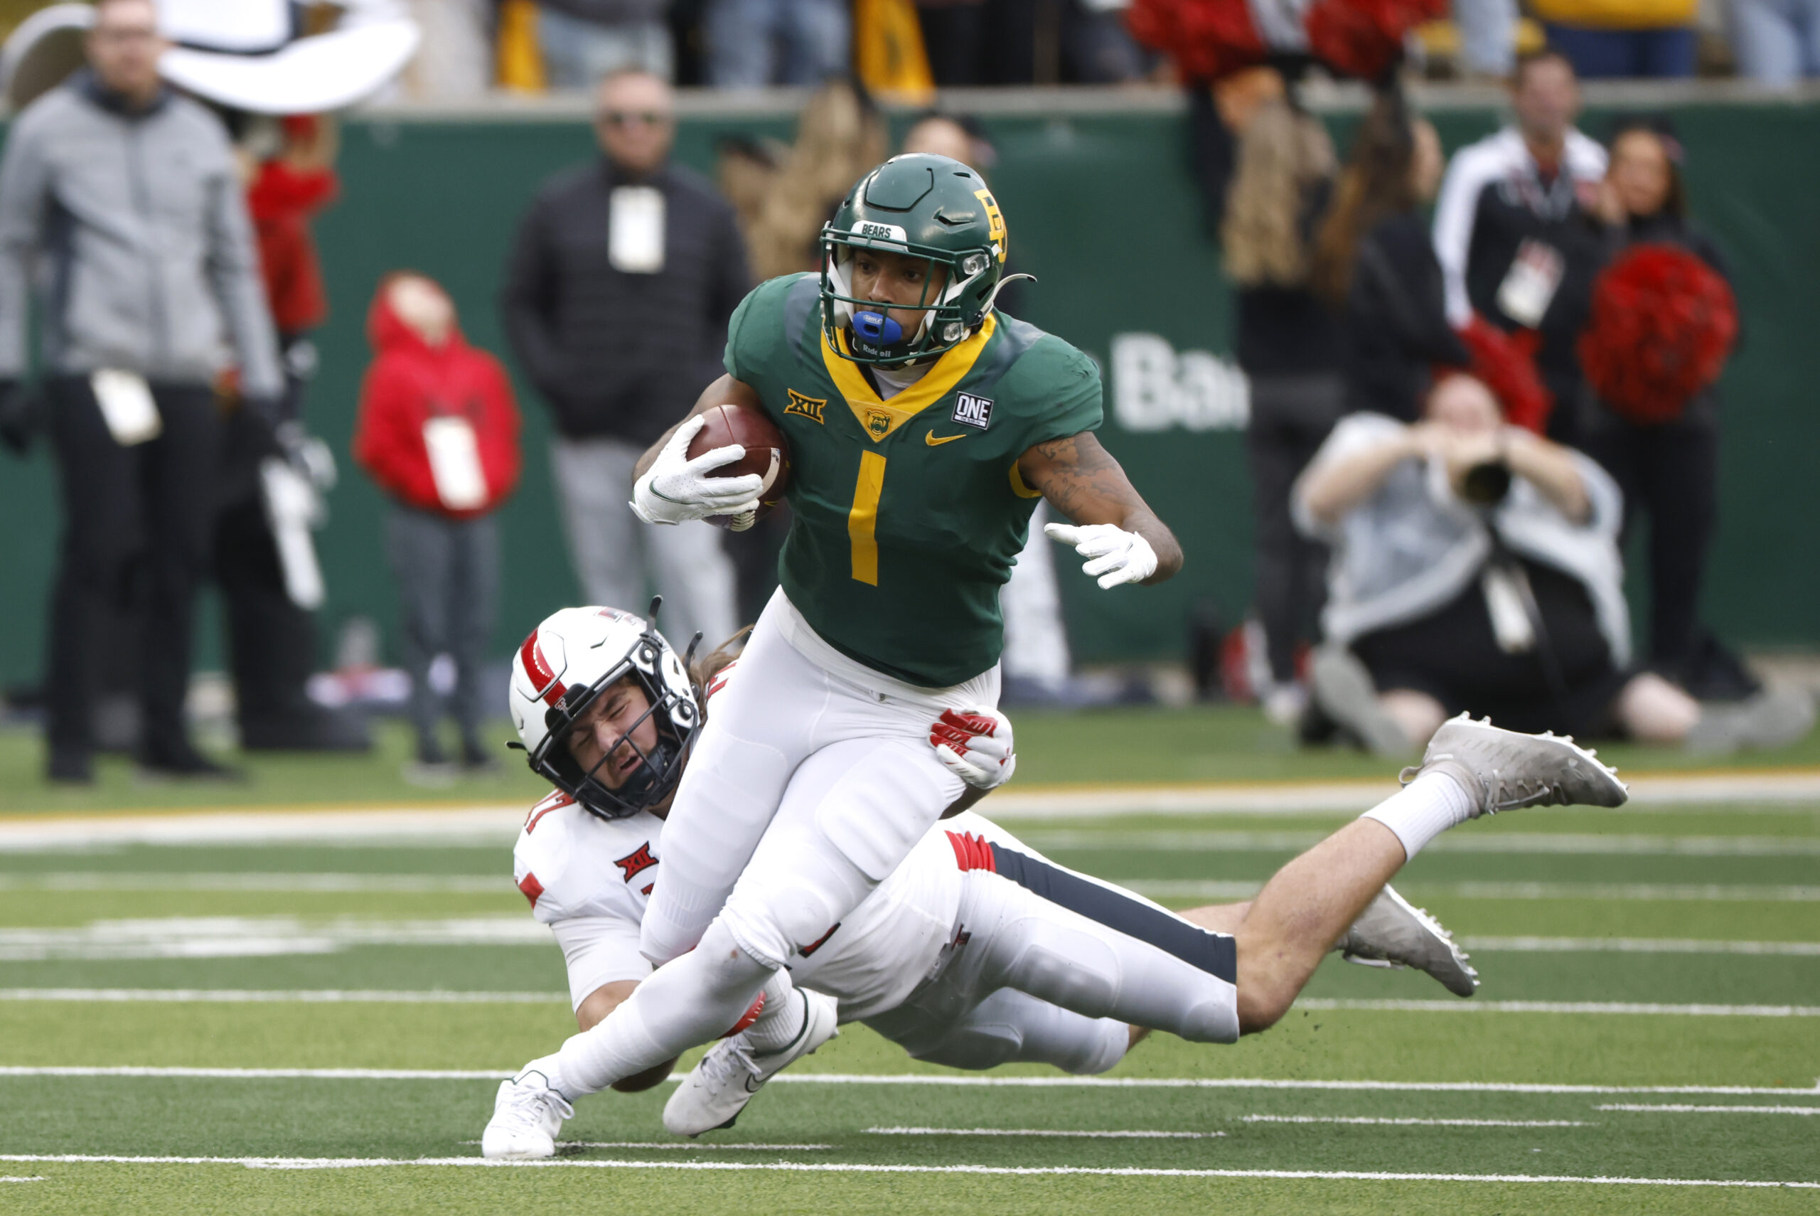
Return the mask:
<svg viewBox="0 0 1820 1216">
<path fill-rule="evenodd" d="M 228 135 L 160 84 L 157 16 L 151 0 L 98 4 L 89 69 L 13 122 L 0 164 L 0 399 L 27 371 L 38 284 L 64 502 L 46 654 L 55 781 L 93 779 L 96 633 L 140 553 L 140 761 L 226 772 L 184 728 L 222 461 L 213 386 L 233 351 L 242 410 L 269 417 L 282 388 Z M 82 147 L 116 153 L 71 155 Z"/>
</svg>

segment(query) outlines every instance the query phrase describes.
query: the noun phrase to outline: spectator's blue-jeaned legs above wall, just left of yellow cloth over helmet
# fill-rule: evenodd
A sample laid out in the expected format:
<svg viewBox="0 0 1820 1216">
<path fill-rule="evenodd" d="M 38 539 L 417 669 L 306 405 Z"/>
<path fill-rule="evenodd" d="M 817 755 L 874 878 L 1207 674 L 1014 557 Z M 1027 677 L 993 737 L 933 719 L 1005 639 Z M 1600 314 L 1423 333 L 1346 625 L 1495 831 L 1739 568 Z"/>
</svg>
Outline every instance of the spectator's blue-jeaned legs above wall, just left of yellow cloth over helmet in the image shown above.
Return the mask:
<svg viewBox="0 0 1820 1216">
<path fill-rule="evenodd" d="M 844 0 L 708 0 L 708 86 L 763 89 L 844 76 L 852 29 Z"/>
</svg>

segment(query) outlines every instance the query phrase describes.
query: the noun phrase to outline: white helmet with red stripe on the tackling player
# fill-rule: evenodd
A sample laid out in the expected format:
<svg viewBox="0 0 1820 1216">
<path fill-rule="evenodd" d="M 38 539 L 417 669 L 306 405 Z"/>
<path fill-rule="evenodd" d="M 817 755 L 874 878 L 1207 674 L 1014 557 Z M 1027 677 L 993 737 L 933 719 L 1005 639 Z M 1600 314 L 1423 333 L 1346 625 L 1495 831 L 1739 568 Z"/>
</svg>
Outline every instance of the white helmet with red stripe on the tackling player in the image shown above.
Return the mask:
<svg viewBox="0 0 1820 1216">
<path fill-rule="evenodd" d="M 652 601 L 653 617 L 659 603 Z M 595 697 L 628 679 L 644 692 L 650 708 L 584 772 L 568 735 Z M 684 659 L 650 621 L 619 608 L 562 608 L 544 617 L 511 661 L 510 701 L 531 772 L 602 819 L 622 819 L 668 797 L 701 730 L 701 703 Z M 646 719 L 657 728 L 650 750 L 632 739 Z M 622 746 L 639 763 L 610 788 L 597 770 Z"/>
</svg>

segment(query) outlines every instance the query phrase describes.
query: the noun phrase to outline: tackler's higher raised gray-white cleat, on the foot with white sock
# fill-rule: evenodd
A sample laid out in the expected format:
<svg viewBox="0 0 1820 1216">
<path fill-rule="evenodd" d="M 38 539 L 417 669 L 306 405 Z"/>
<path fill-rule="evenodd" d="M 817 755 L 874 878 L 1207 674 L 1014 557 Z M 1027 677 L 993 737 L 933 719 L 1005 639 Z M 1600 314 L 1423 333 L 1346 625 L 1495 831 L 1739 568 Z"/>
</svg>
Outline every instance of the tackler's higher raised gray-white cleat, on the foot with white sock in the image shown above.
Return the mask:
<svg viewBox="0 0 1820 1216">
<path fill-rule="evenodd" d="M 1421 765 L 1403 770 L 1403 783 L 1431 770 L 1467 783 L 1472 819 L 1518 806 L 1622 806 L 1631 797 L 1618 770 L 1571 737 L 1522 735 L 1492 726 L 1489 717 L 1474 723 L 1471 714 L 1441 723 Z"/>
</svg>

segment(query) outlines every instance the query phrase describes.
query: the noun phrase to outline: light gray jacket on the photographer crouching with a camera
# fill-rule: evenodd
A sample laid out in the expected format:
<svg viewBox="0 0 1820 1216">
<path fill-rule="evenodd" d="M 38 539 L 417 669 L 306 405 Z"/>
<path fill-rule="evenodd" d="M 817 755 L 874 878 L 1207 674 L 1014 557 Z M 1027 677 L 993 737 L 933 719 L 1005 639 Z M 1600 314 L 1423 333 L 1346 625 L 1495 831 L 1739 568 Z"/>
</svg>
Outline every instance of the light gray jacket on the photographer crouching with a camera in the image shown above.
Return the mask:
<svg viewBox="0 0 1820 1216">
<path fill-rule="evenodd" d="M 1334 548 L 1321 632 L 1340 644 L 1420 621 L 1445 606 L 1472 584 L 1491 557 L 1485 515 L 1454 497 L 1447 470 L 1434 461 L 1403 461 L 1378 493 L 1336 524 L 1323 524 L 1309 510 L 1303 486 L 1310 471 L 1389 442 L 1403 430 L 1403 422 L 1381 413 L 1343 417 L 1290 493 L 1296 526 Z M 1511 493 L 1491 517 L 1511 552 L 1580 581 L 1613 663 L 1627 666 L 1631 613 L 1618 557 L 1623 495 L 1592 459 L 1580 451 L 1569 455 L 1592 504 L 1591 519 L 1583 524 L 1567 519 L 1522 477 L 1511 481 Z"/>
</svg>

